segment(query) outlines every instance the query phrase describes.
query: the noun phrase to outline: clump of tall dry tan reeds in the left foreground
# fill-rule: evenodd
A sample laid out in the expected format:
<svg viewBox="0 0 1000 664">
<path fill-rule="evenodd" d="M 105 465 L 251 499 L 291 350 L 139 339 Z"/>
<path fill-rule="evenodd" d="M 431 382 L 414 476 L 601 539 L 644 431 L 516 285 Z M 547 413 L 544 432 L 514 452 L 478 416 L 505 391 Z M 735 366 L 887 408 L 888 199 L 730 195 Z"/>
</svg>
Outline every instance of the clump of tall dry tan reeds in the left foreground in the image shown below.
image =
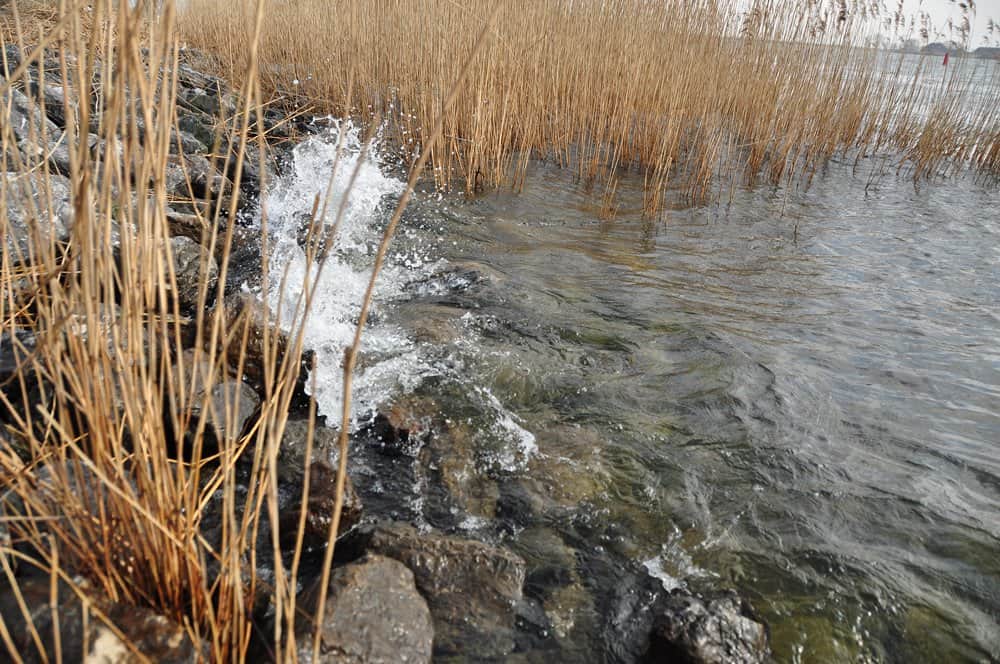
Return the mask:
<svg viewBox="0 0 1000 664">
<path fill-rule="evenodd" d="M 20 10 L 18 6 L 15 3 L 13 13 L 3 17 L 0 26 L 0 46 L 13 42 L 29 53 L 21 66 L 11 65 L 14 71 L 9 79 L 0 79 L 4 105 L 0 110 L 0 171 L 14 175 L 0 178 L 0 238 L 14 232 L 7 214 L 8 199 L 17 198 L 32 214 L 26 252 L 0 242 L 0 333 L 5 335 L 4 343 L 12 345 L 18 362 L 17 371 L 0 392 L 2 406 L 15 419 L 0 431 L 0 500 L 7 507 L 17 506 L 8 509 L 8 517 L 0 523 L 9 535 L 9 540 L 0 540 L 0 585 L 10 584 L 18 592 L 16 562 L 49 574 L 53 587 L 57 581 L 68 584 L 89 606 L 94 620 L 108 622 L 91 601 L 92 589 L 114 601 L 155 608 L 183 625 L 196 643 L 206 644 L 211 661 L 245 659 L 253 611 L 261 608 L 260 599 L 255 603 L 254 598 L 264 596 L 275 613 L 273 656 L 276 661 L 295 661 L 302 652 L 295 641 L 295 591 L 305 510 L 294 551 L 280 550 L 277 527 L 271 527 L 274 560 L 281 561 L 283 553 L 290 553 L 292 562 L 290 569 L 277 563 L 274 578 L 267 583 L 257 576 L 255 542 L 265 527 L 264 515 L 270 524 L 279 522 L 278 443 L 301 365 L 301 323 L 316 281 L 304 284 L 307 297 L 294 320 L 265 321 L 263 339 L 255 341 L 262 349 L 264 395 L 252 430 L 223 441 L 217 451 L 209 453 L 202 441 L 209 426 L 210 387 L 229 371 L 242 373 L 250 343 L 248 319 L 233 321 L 224 307 L 205 306 L 210 300 L 224 299 L 233 224 L 220 224 L 220 219 L 234 217 L 240 182 L 234 182 L 231 197 L 206 201 L 196 199 L 189 179 L 187 202 L 194 205 L 203 223 L 202 243 L 221 259 L 218 285 L 212 293 L 202 265 L 197 314 L 193 320 L 185 318 L 178 302 L 165 213 L 180 53 L 172 3 L 166 3 L 158 17 L 153 17 L 148 6 L 132 8 L 126 0 L 63 0 L 30 6 L 25 2 Z M 263 137 L 251 130 L 263 125 L 256 47 L 263 3 L 246 9 L 242 18 L 248 23 L 242 27 L 250 33 L 241 41 L 241 69 L 234 72 L 241 81 L 242 101 L 235 117 L 218 119 L 220 131 L 213 149 L 215 154 L 235 151 L 235 173 L 242 172 L 251 141 L 256 141 L 259 154 L 266 149 Z M 478 30 L 477 40 L 486 43 L 485 29 Z M 51 57 L 46 60 L 53 53 L 58 54 L 55 62 Z M 27 90 L 29 65 L 43 62 L 55 67 L 68 91 L 62 140 L 72 147 L 68 176 L 74 223 L 65 243 L 42 232 L 45 224 L 40 220 L 54 214 L 58 203 L 52 194 L 54 174 L 47 155 L 18 149 L 9 122 L 8 91 Z M 454 73 L 439 102 L 442 111 L 450 106 L 447 99 L 457 96 L 462 72 Z M 93 103 L 88 103 L 92 95 Z M 44 100 L 39 103 L 44 112 Z M 441 118 L 438 132 L 444 122 Z M 80 140 L 88 129 L 98 135 L 102 149 L 91 150 Z M 433 131 L 428 134 L 434 135 Z M 41 145 L 48 145 L 51 138 L 55 137 L 30 137 L 32 143 Z M 429 156 L 428 146 L 417 159 L 418 165 Z M 418 174 L 411 177 L 386 232 L 373 284 Z M 25 184 L 32 181 L 38 183 L 37 196 Z M 315 220 L 324 217 L 316 213 L 328 203 L 316 200 L 307 251 L 321 266 L 319 247 L 325 233 Z M 342 205 L 338 221 L 343 210 Z M 261 274 L 266 282 L 266 214 L 261 225 Z M 120 238 L 117 256 L 115 237 Z M 267 292 L 266 283 L 263 289 Z M 345 413 L 349 412 L 350 373 L 370 298 L 371 288 L 346 362 Z M 292 332 L 281 340 L 271 324 Z M 34 343 L 25 341 L 29 338 L 25 335 Z M 174 362 L 185 340 L 191 338 L 199 340 L 194 365 L 207 367 L 197 369 L 204 372 L 197 376 L 185 375 L 184 363 Z M 33 385 L 40 386 L 41 393 L 29 397 Z M 23 408 L 24 403 L 30 407 Z M 228 431 L 233 430 L 238 405 L 227 395 L 224 412 L 215 414 L 226 422 Z M 192 412 L 201 415 L 193 417 Z M 322 570 L 322 595 L 346 477 L 346 418 L 341 427 L 339 494 Z M 179 456 L 183 433 L 172 432 L 190 430 L 195 431 L 193 449 Z M 310 456 L 307 450 L 305 459 Z M 238 497 L 235 470 L 241 459 L 250 463 L 251 481 L 248 492 Z M 303 505 L 308 491 L 307 465 Z M 219 495 L 222 537 L 216 546 L 204 539 L 200 526 Z M 86 583 L 79 583 L 80 578 Z M 31 624 L 31 607 L 22 602 L 22 610 Z M 114 625 L 108 626 L 116 631 Z M 308 644 L 314 661 L 318 633 Z M 37 632 L 33 636 L 37 658 L 46 660 L 42 648 L 46 639 Z M 13 660 L 20 661 L 22 654 L 36 658 L 35 653 L 17 652 L 3 617 L 0 639 Z M 54 658 L 60 661 L 57 636 L 49 642 L 55 644 Z"/>
</svg>

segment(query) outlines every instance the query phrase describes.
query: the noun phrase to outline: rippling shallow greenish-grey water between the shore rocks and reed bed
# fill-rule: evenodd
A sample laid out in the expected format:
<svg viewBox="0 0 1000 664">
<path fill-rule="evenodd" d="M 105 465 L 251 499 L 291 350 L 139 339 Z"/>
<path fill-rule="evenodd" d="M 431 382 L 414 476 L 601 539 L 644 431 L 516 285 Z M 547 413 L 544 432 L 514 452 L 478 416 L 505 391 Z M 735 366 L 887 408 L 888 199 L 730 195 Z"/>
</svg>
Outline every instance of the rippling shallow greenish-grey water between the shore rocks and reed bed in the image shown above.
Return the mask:
<svg viewBox="0 0 1000 664">
<path fill-rule="evenodd" d="M 601 220 L 544 165 L 517 195 L 418 197 L 356 412 L 415 392 L 447 432 L 401 457 L 358 437 L 369 513 L 521 553 L 527 660 L 630 659 L 611 616 L 649 575 L 740 590 L 778 661 L 1000 658 L 1000 194 L 866 193 L 852 166 L 658 220 L 640 182 Z M 348 276 L 311 322 L 328 414 Z"/>
</svg>

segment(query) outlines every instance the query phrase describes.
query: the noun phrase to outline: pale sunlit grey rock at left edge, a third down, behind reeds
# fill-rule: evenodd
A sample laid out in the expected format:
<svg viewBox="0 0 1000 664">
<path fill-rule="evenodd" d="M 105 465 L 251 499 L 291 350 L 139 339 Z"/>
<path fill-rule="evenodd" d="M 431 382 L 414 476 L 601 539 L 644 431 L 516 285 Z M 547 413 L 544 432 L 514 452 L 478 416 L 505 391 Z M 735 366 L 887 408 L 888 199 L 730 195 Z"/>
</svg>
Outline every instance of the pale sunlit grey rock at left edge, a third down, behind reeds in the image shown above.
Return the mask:
<svg viewBox="0 0 1000 664">
<path fill-rule="evenodd" d="M 10 255 L 17 252 L 25 259 L 33 245 L 32 233 L 37 230 L 42 242 L 65 242 L 73 226 L 73 203 L 70 181 L 61 175 L 48 177 L 40 173 L 21 175 L 0 174 L 0 189 L 6 190 L 7 237 L 4 242 Z"/>
</svg>

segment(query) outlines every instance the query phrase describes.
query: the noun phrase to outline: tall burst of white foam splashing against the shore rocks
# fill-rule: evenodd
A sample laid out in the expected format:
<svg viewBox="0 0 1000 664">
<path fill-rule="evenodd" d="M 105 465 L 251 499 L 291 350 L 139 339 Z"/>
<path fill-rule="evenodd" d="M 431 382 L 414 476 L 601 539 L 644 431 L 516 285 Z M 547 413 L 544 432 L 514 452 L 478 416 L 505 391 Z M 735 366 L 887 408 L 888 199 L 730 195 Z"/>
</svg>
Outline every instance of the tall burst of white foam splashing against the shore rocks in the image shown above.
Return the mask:
<svg viewBox="0 0 1000 664">
<path fill-rule="evenodd" d="M 329 131 L 295 147 L 290 171 L 274 183 L 265 198 L 272 243 L 266 300 L 280 316 L 282 327 L 287 330 L 297 324 L 306 278 L 315 280 L 318 273 L 315 263 L 307 265 L 306 254 L 298 243 L 303 219 L 312 211 L 317 195 L 322 206 L 329 194 L 323 224 L 332 227 L 346 196 L 344 215 L 319 276 L 304 330 L 305 346 L 316 354 L 314 396 L 318 411 L 339 421 L 344 349 L 353 341 L 375 250 L 404 184 L 383 173 L 374 146 L 368 154 L 362 154 L 362 136 L 357 127 L 338 121 L 331 121 L 331 126 Z M 339 132 L 344 134 L 342 153 L 330 187 Z M 359 162 L 357 178 L 348 192 Z M 375 291 L 373 319 L 380 306 L 398 297 L 402 286 L 417 278 L 425 264 L 412 256 L 407 262 L 409 266 L 394 263 L 383 269 Z M 388 400 L 397 390 L 414 389 L 427 370 L 412 340 L 391 323 L 370 322 L 362 349 L 364 358 L 354 376 L 354 418 Z M 313 377 L 309 378 L 307 386 L 311 387 Z"/>
</svg>

